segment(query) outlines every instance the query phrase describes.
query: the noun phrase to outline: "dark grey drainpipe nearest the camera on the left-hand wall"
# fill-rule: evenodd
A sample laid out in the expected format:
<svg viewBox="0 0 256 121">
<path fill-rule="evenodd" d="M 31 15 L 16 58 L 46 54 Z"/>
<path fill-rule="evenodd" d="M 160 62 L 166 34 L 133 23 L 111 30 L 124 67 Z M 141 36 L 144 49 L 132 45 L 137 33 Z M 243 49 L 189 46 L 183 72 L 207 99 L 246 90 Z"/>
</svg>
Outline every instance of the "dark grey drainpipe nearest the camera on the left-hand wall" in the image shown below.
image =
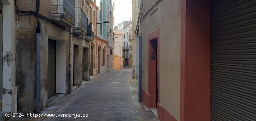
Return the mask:
<svg viewBox="0 0 256 121">
<path fill-rule="evenodd" d="M 40 0 L 36 0 L 36 14 L 37 14 L 37 27 L 36 27 L 36 113 L 40 114 L 40 56 L 41 56 L 41 34 L 40 34 L 40 22 L 39 22 L 39 7 Z"/>
</svg>

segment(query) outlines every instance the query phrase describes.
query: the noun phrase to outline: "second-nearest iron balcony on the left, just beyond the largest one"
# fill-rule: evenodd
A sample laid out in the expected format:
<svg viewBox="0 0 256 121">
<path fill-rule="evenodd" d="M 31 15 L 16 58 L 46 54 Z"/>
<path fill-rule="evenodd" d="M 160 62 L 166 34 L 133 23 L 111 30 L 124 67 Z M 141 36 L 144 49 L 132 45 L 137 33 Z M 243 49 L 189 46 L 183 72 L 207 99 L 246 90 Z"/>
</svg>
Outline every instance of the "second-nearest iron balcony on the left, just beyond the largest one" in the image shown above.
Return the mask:
<svg viewBox="0 0 256 121">
<path fill-rule="evenodd" d="M 75 8 L 75 27 L 73 28 L 74 34 L 85 35 L 87 33 L 88 17 L 86 13 L 80 8 Z"/>
</svg>

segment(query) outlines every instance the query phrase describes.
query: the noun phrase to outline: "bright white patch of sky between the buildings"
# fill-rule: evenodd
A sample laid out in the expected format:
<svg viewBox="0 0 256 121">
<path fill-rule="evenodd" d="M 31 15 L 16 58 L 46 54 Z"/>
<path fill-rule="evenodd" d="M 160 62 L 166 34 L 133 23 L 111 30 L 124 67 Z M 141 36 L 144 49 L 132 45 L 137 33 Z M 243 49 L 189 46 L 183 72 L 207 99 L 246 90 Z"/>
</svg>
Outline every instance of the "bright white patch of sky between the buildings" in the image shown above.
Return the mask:
<svg viewBox="0 0 256 121">
<path fill-rule="evenodd" d="M 115 26 L 124 20 L 132 19 L 132 0 L 115 0 Z"/>
</svg>

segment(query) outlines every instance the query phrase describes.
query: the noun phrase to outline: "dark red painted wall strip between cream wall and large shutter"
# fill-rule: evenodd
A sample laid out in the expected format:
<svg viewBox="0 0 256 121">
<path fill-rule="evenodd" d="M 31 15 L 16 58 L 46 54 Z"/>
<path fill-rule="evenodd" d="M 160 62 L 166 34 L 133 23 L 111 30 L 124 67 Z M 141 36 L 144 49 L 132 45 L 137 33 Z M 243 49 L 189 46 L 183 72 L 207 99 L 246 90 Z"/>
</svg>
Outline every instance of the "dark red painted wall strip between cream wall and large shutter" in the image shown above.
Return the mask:
<svg viewBox="0 0 256 121">
<path fill-rule="evenodd" d="M 182 0 L 181 121 L 210 121 L 210 0 Z"/>
</svg>

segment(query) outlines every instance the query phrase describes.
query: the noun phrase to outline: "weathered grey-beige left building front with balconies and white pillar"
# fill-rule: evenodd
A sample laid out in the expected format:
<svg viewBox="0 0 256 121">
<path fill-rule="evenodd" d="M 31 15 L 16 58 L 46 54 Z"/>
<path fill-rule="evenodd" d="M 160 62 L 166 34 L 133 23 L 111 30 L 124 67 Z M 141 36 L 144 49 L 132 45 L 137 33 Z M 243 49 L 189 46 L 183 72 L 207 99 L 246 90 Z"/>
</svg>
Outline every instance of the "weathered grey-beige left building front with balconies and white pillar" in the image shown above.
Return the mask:
<svg viewBox="0 0 256 121">
<path fill-rule="evenodd" d="M 1 0 L 0 20 L 4 22 L 0 28 L 7 28 L 0 34 L 3 42 L 2 111 L 32 113 L 37 110 L 37 62 L 40 62 L 39 110 L 53 104 L 52 99 L 81 86 L 82 80 L 90 80 L 89 50 L 94 37 L 86 9 L 90 2 L 40 0 L 37 21 L 36 2 Z M 35 36 L 38 25 L 39 48 Z M 39 49 L 40 61 L 36 61 L 36 49 Z"/>
</svg>

